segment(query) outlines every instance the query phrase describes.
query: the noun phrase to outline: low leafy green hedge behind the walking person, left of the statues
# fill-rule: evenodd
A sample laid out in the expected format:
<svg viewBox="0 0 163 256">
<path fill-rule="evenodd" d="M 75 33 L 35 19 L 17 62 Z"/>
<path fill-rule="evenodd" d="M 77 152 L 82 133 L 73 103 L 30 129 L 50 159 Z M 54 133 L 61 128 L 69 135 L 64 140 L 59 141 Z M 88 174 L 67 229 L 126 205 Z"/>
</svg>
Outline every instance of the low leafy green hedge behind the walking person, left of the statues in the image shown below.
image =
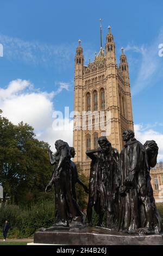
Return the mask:
<svg viewBox="0 0 163 256">
<path fill-rule="evenodd" d="M 41 227 L 50 227 L 54 222 L 54 202 L 40 201 L 30 208 L 21 208 L 17 205 L 2 205 L 0 208 L 0 225 L 8 220 L 10 229 L 8 237 L 20 238 L 32 236 Z M 2 238 L 2 232 L 1 236 Z"/>
</svg>

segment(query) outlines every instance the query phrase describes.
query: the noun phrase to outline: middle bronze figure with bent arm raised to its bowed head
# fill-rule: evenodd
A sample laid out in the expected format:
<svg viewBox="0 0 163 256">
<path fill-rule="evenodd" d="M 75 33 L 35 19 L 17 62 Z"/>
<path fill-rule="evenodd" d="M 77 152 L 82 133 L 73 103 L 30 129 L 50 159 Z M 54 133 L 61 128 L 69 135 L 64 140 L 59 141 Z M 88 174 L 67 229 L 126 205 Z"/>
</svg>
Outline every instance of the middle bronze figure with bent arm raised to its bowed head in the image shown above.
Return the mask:
<svg viewBox="0 0 163 256">
<path fill-rule="evenodd" d="M 99 148 L 86 151 L 92 160 L 89 179 L 89 202 L 87 220 L 92 225 L 92 207 L 99 216 L 97 225 L 102 227 L 107 212 L 107 227 L 113 228 L 116 215 L 114 201 L 117 193 L 118 151 L 111 147 L 105 136 L 98 139 Z"/>
</svg>

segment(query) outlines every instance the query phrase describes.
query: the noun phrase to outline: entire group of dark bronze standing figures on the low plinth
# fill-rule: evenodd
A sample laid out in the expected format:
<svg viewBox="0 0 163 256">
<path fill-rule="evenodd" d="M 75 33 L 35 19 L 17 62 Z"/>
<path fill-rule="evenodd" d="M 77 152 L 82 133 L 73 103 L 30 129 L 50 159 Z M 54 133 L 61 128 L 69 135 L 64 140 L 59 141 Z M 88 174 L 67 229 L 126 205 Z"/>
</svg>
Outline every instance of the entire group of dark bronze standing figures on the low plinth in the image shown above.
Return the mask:
<svg viewBox="0 0 163 256">
<path fill-rule="evenodd" d="M 48 149 L 54 165 L 46 192 L 55 188 L 55 217 L 57 227 L 92 226 L 92 208 L 98 215 L 98 227 L 129 234 L 159 234 L 161 217 L 156 209 L 151 185 L 150 169 L 156 164 L 158 146 L 155 141 L 142 145 L 134 132 L 123 132 L 124 148 L 117 149 L 104 136 L 98 138 L 98 149 L 86 151 L 90 157 L 89 190 L 78 178 L 76 164 L 71 161 L 75 150 L 62 140 L 55 142 L 56 153 Z M 89 193 L 87 224 L 85 214 L 77 203 L 76 183 Z"/>
</svg>

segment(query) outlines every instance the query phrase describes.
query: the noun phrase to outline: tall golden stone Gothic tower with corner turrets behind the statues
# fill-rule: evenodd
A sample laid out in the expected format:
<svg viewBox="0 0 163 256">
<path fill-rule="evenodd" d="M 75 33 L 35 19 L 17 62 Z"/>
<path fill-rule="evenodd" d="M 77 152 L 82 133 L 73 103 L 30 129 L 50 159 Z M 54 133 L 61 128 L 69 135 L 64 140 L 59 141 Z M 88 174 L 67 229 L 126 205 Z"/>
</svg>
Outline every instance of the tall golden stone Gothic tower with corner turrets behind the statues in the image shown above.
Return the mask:
<svg viewBox="0 0 163 256">
<path fill-rule="evenodd" d="M 120 151 L 123 147 L 122 132 L 134 130 L 134 127 L 127 58 L 122 48 L 120 65 L 117 66 L 110 26 L 105 51 L 101 39 L 98 55 L 95 54 L 94 61 L 87 66 L 84 65 L 80 42 L 74 59 L 73 147 L 76 150 L 74 161 L 89 175 L 90 159 L 85 151 L 98 148 L 98 137 L 108 137 L 112 147 Z M 107 127 L 110 127 L 109 132 Z"/>
</svg>

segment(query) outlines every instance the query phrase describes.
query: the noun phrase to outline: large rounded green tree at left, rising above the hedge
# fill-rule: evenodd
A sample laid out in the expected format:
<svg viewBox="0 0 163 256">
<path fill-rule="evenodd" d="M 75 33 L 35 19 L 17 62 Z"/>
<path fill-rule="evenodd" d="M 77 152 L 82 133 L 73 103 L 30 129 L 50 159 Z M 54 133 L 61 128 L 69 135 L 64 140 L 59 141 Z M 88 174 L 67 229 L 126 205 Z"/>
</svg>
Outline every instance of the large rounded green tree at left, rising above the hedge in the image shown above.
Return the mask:
<svg viewBox="0 0 163 256">
<path fill-rule="evenodd" d="M 4 199 L 14 203 L 36 202 L 52 173 L 48 143 L 35 138 L 34 129 L 12 124 L 0 115 L 0 183 Z"/>
</svg>

